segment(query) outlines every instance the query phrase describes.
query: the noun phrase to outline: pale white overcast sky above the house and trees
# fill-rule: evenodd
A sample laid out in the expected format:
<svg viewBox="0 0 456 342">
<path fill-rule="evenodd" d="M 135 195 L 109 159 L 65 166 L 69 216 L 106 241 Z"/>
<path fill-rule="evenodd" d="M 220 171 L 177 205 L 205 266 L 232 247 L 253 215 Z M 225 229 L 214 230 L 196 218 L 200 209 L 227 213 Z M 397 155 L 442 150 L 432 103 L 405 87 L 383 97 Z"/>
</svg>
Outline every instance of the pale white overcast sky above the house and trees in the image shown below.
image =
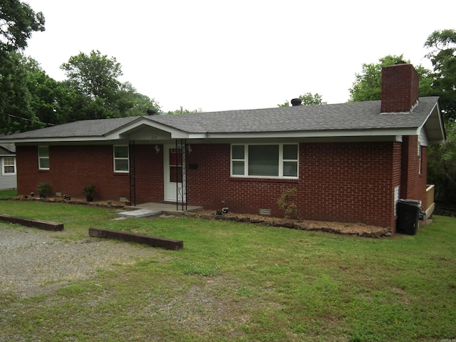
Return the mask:
<svg viewBox="0 0 456 342">
<path fill-rule="evenodd" d="M 98 50 L 165 112 L 272 108 L 308 92 L 344 103 L 363 63 L 403 53 L 430 68 L 427 36 L 456 29 L 454 0 L 25 2 L 46 18 L 25 53 L 49 76 Z"/>
</svg>

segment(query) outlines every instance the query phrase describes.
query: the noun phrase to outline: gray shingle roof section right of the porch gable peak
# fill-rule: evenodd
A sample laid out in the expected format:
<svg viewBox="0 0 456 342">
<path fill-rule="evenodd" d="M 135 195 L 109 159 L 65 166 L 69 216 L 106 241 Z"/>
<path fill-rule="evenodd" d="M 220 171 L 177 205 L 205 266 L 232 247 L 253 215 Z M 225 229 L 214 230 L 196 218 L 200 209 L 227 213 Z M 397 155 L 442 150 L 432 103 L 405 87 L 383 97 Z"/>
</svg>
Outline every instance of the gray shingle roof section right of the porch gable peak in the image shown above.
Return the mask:
<svg viewBox="0 0 456 342">
<path fill-rule="evenodd" d="M 413 113 L 380 115 L 380 100 L 150 117 L 189 133 L 254 133 L 302 130 L 418 128 L 437 97 L 420 98 Z"/>
</svg>

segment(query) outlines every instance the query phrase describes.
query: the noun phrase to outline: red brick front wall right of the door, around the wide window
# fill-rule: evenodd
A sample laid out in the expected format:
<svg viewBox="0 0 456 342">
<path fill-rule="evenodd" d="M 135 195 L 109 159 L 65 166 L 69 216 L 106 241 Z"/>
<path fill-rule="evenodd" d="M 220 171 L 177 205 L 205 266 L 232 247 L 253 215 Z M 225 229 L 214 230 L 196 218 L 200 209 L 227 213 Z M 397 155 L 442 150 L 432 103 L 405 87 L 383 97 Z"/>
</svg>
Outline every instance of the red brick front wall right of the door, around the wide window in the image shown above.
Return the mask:
<svg viewBox="0 0 456 342">
<path fill-rule="evenodd" d="M 207 209 L 227 206 L 234 212 L 260 208 L 282 215 L 276 202 L 290 187 L 305 219 L 364 222 L 392 227 L 394 187 L 398 185 L 400 145 L 393 142 L 306 143 L 299 147 L 298 180 L 229 177 L 230 146 L 193 145 L 187 172 L 188 201 Z M 224 204 L 222 203 L 224 201 Z"/>
</svg>

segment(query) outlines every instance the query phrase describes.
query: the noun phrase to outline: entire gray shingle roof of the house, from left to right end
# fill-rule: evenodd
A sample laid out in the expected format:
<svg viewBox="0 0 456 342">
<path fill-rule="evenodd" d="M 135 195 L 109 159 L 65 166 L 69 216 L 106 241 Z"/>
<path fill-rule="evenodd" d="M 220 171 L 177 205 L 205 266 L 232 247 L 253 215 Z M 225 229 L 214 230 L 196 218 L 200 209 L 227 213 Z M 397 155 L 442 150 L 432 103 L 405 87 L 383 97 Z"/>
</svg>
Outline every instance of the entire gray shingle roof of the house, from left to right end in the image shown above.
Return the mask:
<svg viewBox="0 0 456 342">
<path fill-rule="evenodd" d="M 373 130 L 418 128 L 437 103 L 437 97 L 419 99 L 410 113 L 380 114 L 380 100 L 335 105 L 301 105 L 212 113 L 145 116 L 146 120 L 185 133 L 266 133 L 297 131 Z M 139 117 L 140 118 L 140 117 Z M 81 120 L 74 123 L 17 133 L 8 140 L 103 137 L 138 120 L 138 117 Z"/>
</svg>

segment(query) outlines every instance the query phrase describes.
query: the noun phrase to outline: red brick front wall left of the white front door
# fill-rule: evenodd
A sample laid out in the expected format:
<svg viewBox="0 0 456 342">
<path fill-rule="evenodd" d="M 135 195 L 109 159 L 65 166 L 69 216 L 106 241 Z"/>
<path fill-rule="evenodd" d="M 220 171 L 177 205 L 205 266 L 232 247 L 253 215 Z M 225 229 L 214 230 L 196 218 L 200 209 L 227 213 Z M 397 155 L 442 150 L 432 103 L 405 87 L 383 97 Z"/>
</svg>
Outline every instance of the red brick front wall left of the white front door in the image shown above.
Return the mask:
<svg viewBox="0 0 456 342">
<path fill-rule="evenodd" d="M 161 202 L 163 199 L 163 155 L 152 145 L 136 145 L 136 202 Z M 18 193 L 38 194 L 38 183 L 51 185 L 50 196 L 57 191 L 83 198 L 82 189 L 94 184 L 95 200 L 130 198 L 128 173 L 114 172 L 113 146 L 49 146 L 49 170 L 38 170 L 36 146 L 18 146 Z"/>
</svg>

